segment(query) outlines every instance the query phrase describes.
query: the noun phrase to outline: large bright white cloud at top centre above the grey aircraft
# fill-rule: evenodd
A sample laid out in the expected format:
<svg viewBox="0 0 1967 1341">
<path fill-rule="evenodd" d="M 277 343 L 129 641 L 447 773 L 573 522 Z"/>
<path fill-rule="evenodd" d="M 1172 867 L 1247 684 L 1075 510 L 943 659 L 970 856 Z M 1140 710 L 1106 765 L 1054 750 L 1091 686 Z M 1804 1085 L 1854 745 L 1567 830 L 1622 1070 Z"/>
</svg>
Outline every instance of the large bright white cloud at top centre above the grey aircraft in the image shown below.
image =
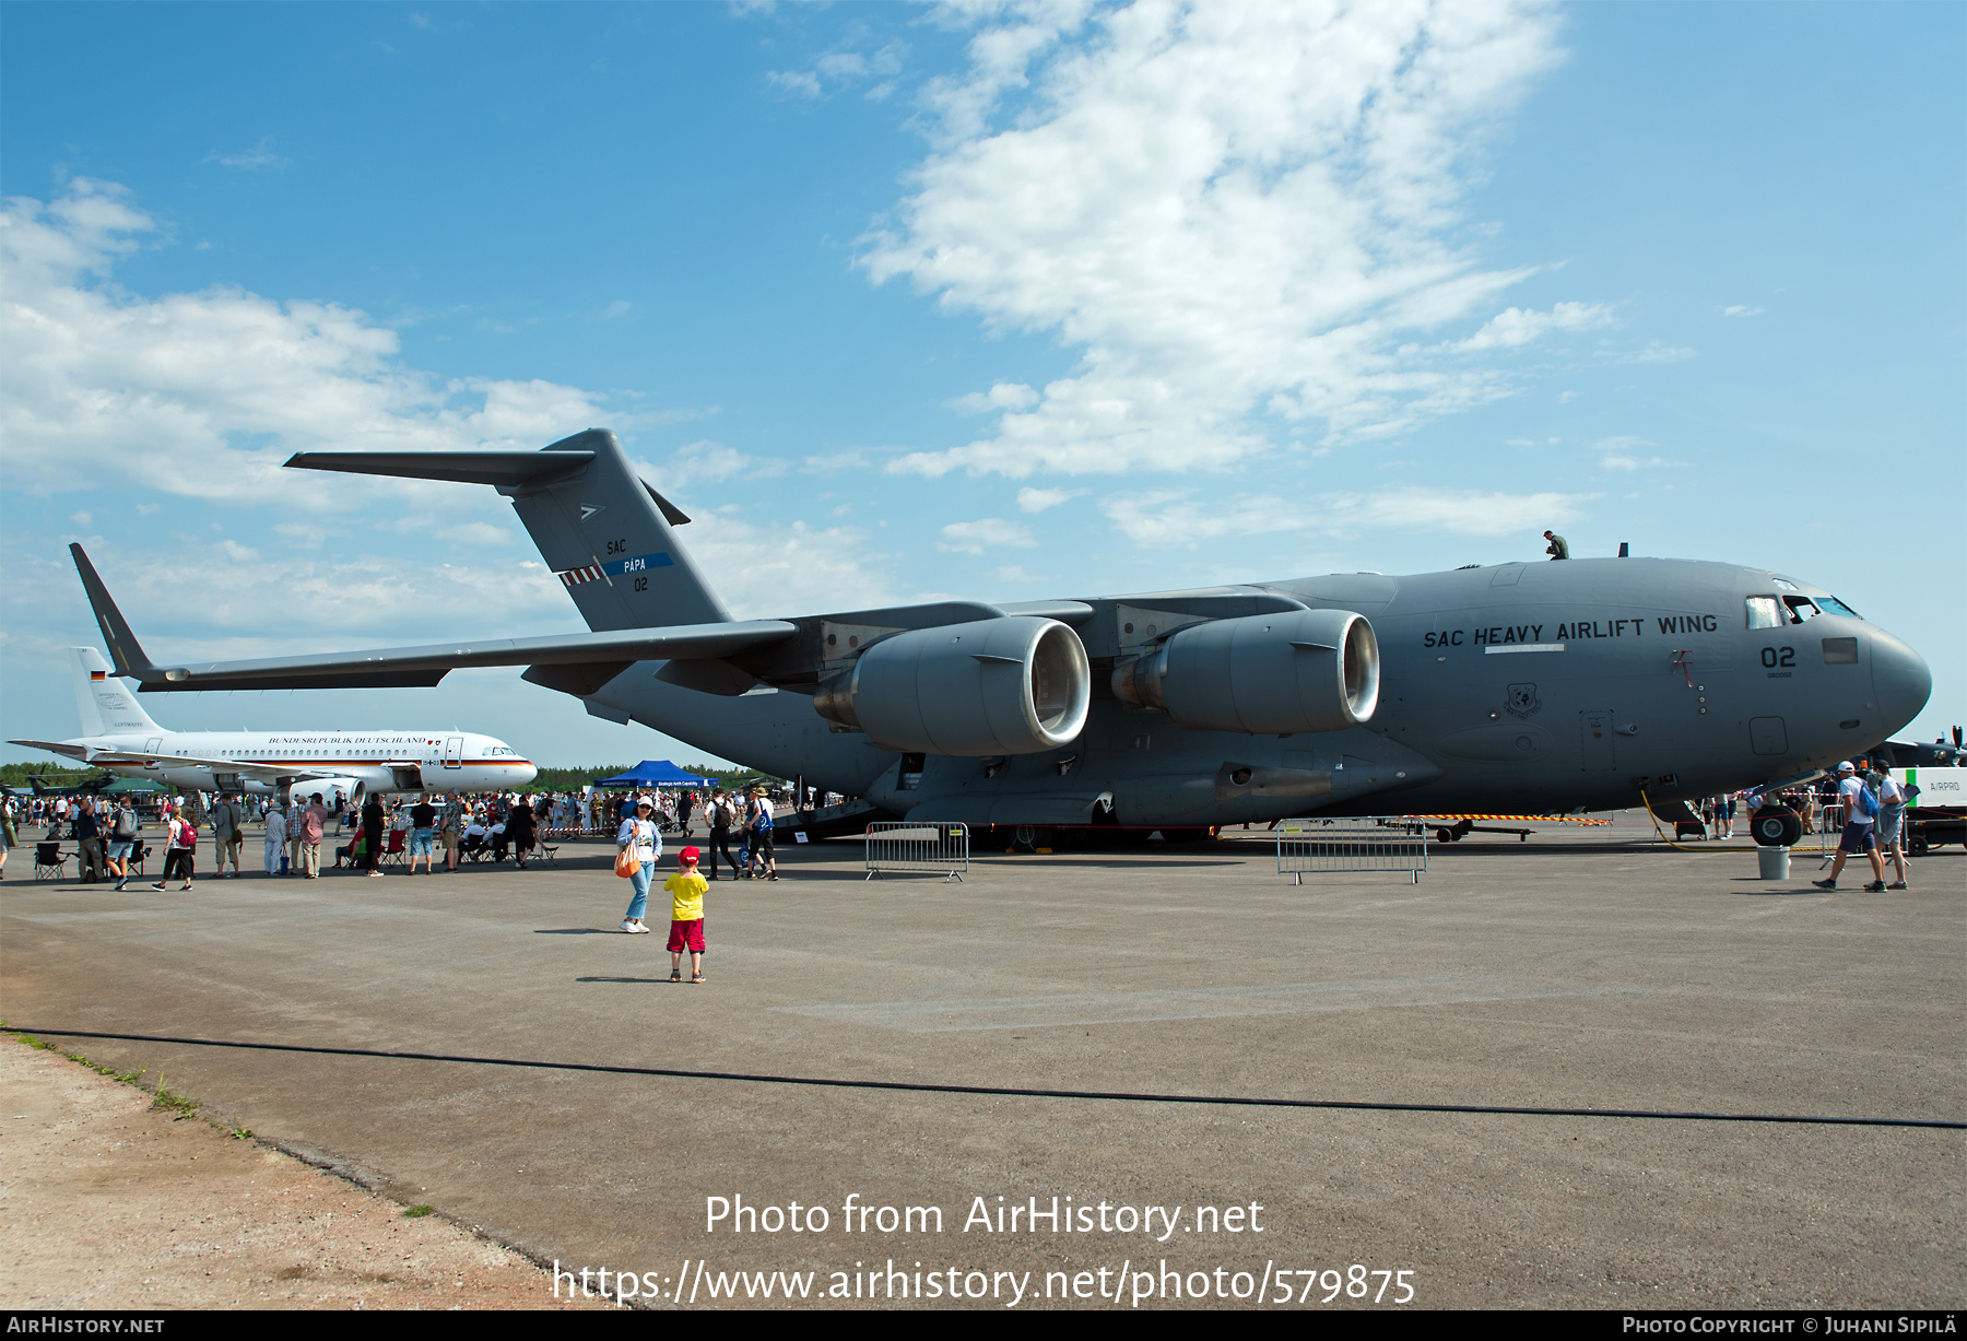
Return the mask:
<svg viewBox="0 0 1967 1341">
<path fill-rule="evenodd" d="M 966 397 L 1001 409 L 991 435 L 889 470 L 1212 468 L 1269 450 L 1265 413 L 1347 440 L 1515 389 L 1507 368 L 1444 366 L 1416 336 L 1493 313 L 1528 273 L 1483 269 L 1456 238 L 1471 146 L 1560 55 L 1548 8 L 946 14 L 974 26 L 970 65 L 930 85 L 936 147 L 862 263 L 1080 360 L 1029 405 Z M 1479 350 L 1574 309 L 1601 311 L 1515 319 Z"/>
</svg>

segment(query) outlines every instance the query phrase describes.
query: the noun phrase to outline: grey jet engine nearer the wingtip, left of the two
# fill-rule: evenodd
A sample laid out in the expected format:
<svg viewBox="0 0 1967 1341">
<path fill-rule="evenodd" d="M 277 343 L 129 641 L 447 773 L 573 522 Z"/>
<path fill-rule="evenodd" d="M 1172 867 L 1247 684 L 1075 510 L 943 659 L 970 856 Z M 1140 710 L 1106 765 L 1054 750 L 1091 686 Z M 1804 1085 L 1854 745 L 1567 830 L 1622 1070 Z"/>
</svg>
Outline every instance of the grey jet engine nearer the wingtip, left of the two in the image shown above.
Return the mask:
<svg viewBox="0 0 1967 1341">
<path fill-rule="evenodd" d="M 1080 635 L 1005 615 L 885 637 L 820 684 L 812 708 L 889 749 L 985 757 L 1070 743 L 1090 700 Z"/>
</svg>

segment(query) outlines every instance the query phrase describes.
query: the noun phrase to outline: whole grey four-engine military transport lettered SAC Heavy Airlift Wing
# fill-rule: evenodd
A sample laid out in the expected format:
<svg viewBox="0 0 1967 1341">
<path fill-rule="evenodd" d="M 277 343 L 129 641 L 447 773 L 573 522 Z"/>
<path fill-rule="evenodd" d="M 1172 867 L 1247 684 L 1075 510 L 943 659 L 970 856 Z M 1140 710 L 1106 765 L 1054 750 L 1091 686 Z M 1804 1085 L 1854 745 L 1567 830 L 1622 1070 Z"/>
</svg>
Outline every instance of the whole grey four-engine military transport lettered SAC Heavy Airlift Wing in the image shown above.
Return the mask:
<svg viewBox="0 0 1967 1341">
<path fill-rule="evenodd" d="M 734 619 L 616 437 L 303 452 L 490 484 L 588 633 L 151 665 L 144 690 L 525 678 L 612 722 L 911 820 L 1196 830 L 1300 814 L 1572 812 L 1808 775 L 1906 726 L 1926 663 L 1829 592 L 1668 558 L 1507 562 L 1046 602 Z"/>
</svg>

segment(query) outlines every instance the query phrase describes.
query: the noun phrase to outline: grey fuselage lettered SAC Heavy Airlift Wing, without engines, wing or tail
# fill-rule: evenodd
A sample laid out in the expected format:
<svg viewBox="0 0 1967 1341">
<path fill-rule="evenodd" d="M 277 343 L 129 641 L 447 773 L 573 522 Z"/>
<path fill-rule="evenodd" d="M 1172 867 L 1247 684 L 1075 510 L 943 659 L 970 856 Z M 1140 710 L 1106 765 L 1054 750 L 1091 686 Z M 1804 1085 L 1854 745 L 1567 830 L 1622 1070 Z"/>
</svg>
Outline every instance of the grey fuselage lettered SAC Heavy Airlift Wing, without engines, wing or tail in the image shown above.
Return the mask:
<svg viewBox="0 0 1967 1341">
<path fill-rule="evenodd" d="M 1162 619 L 1159 635 L 1166 619 L 1182 627 L 1196 610 L 1261 594 L 1371 619 L 1381 663 L 1371 722 L 1290 735 L 1194 731 L 1102 692 L 1149 619 Z M 1084 606 L 1074 629 L 1094 702 L 1078 739 L 1044 753 L 899 757 L 832 733 L 805 694 L 712 698 L 657 680 L 653 665 L 631 667 L 588 704 L 897 814 L 1088 824 L 1111 808 L 1125 826 L 1204 826 L 1308 810 L 1609 810 L 1639 804 L 1642 790 L 1735 790 L 1863 751 L 1930 692 L 1912 649 L 1827 592 L 1731 564 L 1583 558 L 1336 574 Z M 1764 627 L 1749 627 L 1751 617 Z"/>
</svg>

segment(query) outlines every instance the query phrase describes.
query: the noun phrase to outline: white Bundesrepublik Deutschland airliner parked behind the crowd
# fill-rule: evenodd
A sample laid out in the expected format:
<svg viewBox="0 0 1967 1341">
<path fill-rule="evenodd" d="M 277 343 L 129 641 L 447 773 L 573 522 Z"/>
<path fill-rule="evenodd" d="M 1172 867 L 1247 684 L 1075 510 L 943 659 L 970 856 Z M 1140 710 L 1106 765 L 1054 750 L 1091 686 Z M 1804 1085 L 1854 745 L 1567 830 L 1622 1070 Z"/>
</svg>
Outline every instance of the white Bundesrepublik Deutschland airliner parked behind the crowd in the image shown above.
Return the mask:
<svg viewBox="0 0 1967 1341">
<path fill-rule="evenodd" d="M 539 769 L 506 741 L 470 731 L 167 731 L 110 676 L 94 647 L 71 647 L 83 733 L 8 741 L 195 790 L 297 792 L 354 802 L 368 792 L 498 792 Z"/>
</svg>

